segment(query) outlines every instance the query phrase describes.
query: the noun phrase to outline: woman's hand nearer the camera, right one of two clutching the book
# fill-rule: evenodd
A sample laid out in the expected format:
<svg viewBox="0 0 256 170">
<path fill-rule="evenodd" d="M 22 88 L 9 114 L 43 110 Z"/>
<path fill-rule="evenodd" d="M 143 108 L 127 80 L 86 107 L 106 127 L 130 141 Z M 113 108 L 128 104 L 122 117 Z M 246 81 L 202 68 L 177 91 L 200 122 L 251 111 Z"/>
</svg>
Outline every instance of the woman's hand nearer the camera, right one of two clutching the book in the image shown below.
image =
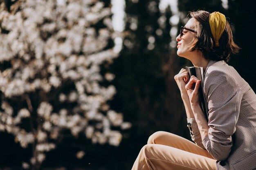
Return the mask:
<svg viewBox="0 0 256 170">
<path fill-rule="evenodd" d="M 189 82 L 185 86 L 186 91 L 189 95 L 189 100 L 191 105 L 199 105 L 199 94 L 198 94 L 199 87 L 200 87 L 200 80 L 197 77 L 192 75 Z"/>
</svg>

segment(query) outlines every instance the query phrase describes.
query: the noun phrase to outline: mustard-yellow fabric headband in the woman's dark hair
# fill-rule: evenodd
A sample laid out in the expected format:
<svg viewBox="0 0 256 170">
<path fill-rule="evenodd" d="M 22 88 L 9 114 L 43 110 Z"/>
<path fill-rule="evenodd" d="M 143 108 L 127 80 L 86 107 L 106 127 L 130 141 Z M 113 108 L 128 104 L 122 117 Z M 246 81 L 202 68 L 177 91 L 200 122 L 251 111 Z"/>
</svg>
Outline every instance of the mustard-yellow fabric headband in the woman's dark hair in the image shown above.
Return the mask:
<svg viewBox="0 0 256 170">
<path fill-rule="evenodd" d="M 215 46 L 220 46 L 219 40 L 226 26 L 226 17 L 220 12 L 213 12 L 210 14 L 209 23 Z"/>
</svg>

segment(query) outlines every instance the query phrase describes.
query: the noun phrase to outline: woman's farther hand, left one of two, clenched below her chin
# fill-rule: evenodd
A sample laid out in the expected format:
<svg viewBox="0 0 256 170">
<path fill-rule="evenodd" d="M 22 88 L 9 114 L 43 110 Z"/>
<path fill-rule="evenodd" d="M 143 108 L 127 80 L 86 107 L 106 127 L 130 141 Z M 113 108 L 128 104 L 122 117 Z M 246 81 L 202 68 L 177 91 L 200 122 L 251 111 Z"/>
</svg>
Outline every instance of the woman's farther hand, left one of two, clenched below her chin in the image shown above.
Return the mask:
<svg viewBox="0 0 256 170">
<path fill-rule="evenodd" d="M 187 95 L 185 85 L 187 84 L 187 82 L 189 82 L 188 72 L 184 68 L 182 68 L 180 72 L 174 76 L 174 79 L 180 89 L 180 93 L 182 95 Z"/>
</svg>

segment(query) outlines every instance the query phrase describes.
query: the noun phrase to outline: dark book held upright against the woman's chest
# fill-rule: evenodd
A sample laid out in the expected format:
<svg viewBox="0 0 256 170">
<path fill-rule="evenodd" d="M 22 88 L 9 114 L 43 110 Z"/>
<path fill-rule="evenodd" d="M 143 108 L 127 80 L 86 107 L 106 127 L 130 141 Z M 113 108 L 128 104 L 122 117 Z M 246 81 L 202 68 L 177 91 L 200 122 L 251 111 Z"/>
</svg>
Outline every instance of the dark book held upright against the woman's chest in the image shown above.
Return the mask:
<svg viewBox="0 0 256 170">
<path fill-rule="evenodd" d="M 209 109 L 208 109 L 208 104 L 207 104 L 205 96 L 204 96 L 204 71 L 203 71 L 203 68 L 202 67 L 186 67 L 186 71 L 188 72 L 189 79 L 193 75 L 201 81 L 201 84 L 200 84 L 200 87 L 198 90 L 200 107 L 204 113 L 204 116 L 208 120 Z"/>
</svg>

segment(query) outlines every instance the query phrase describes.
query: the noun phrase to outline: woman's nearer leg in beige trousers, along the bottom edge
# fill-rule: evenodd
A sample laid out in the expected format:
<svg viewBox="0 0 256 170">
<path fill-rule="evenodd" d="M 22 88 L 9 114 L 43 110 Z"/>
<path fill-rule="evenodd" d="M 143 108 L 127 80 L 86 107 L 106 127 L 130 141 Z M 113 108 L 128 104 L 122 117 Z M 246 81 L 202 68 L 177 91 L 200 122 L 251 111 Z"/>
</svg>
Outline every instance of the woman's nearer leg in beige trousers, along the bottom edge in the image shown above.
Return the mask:
<svg viewBox="0 0 256 170">
<path fill-rule="evenodd" d="M 216 160 L 170 146 L 147 144 L 132 170 L 216 170 Z"/>
</svg>

